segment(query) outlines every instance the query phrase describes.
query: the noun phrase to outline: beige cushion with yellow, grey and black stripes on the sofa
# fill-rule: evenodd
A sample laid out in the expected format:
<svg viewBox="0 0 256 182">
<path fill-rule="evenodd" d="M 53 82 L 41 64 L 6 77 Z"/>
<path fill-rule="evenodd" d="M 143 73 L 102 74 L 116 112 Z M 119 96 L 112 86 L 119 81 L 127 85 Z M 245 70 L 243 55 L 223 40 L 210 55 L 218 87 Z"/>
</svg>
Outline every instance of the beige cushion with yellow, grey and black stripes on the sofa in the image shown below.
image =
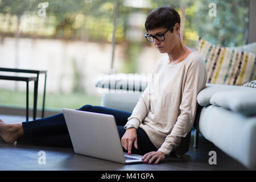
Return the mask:
<svg viewBox="0 0 256 182">
<path fill-rule="evenodd" d="M 207 65 L 207 82 L 213 84 L 242 85 L 256 79 L 254 53 L 216 46 L 199 38 L 196 50 Z"/>
</svg>

